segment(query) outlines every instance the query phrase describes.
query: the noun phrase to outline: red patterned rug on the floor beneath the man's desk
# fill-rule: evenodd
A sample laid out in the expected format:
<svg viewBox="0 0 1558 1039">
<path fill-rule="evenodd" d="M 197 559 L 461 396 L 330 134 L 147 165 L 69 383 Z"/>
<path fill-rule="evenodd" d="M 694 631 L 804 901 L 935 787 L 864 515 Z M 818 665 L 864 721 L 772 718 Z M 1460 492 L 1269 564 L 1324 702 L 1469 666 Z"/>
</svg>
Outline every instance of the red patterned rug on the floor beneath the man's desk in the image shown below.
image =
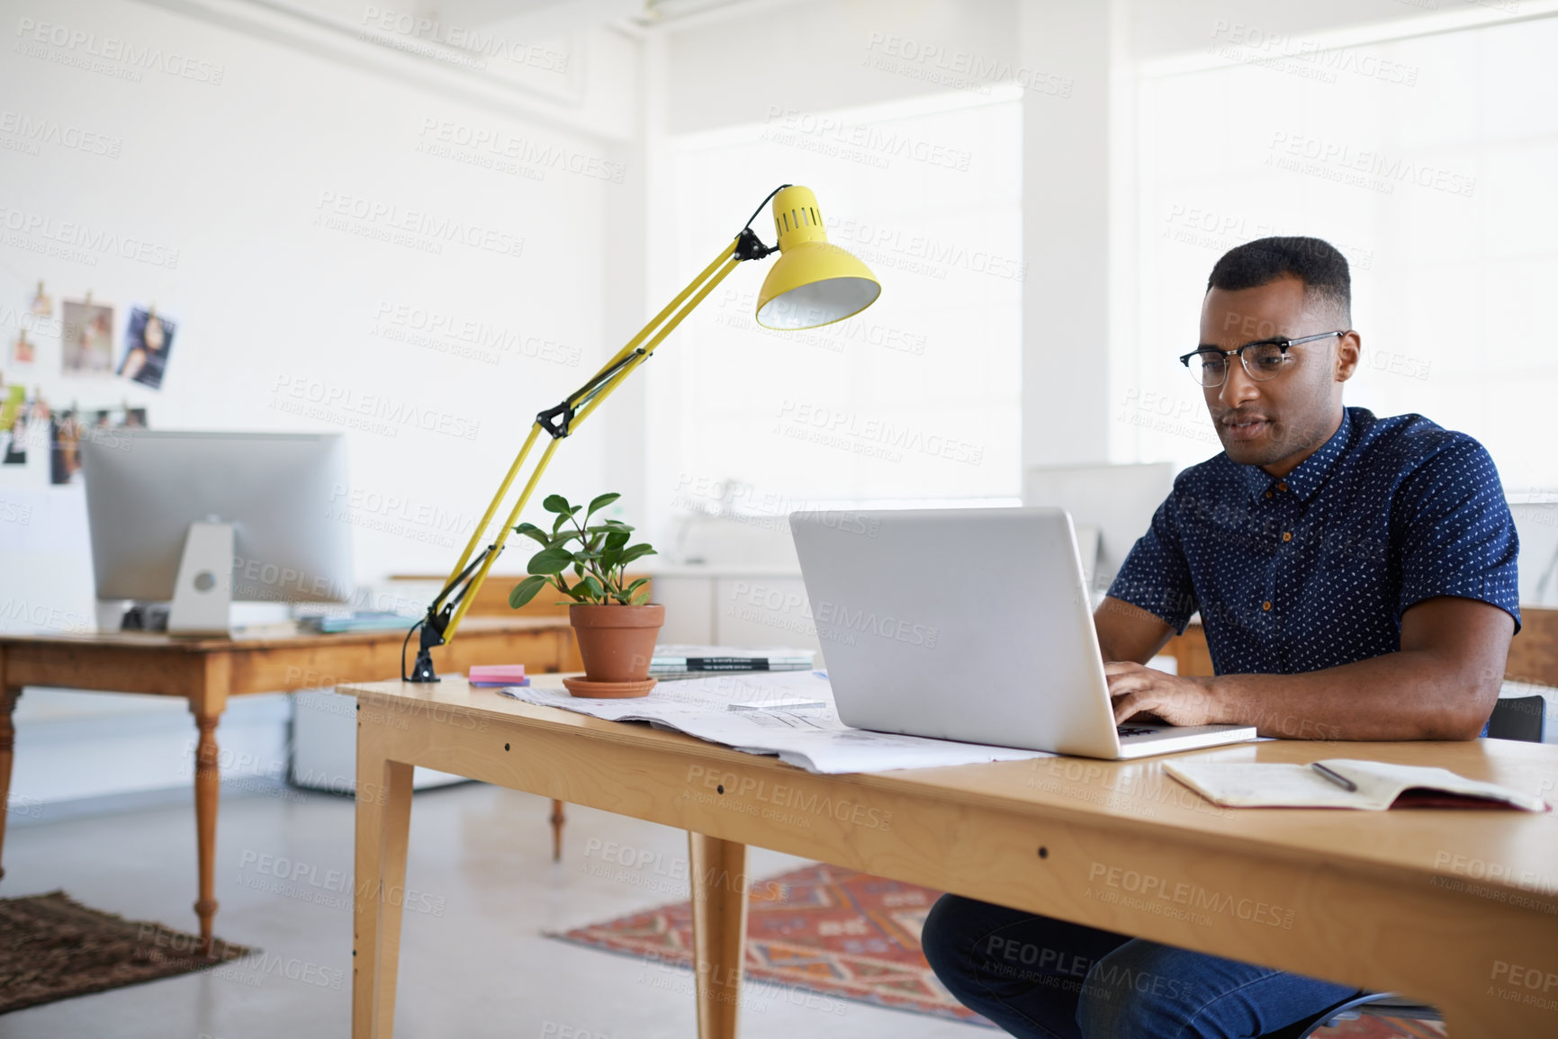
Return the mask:
<svg viewBox="0 0 1558 1039">
<path fill-rule="evenodd" d="M 919 950 L 919 930 L 938 897 L 941 893 L 930 888 L 826 865 L 759 880 L 746 910 L 746 977 L 787 991 L 809 989 L 994 1028 L 941 988 Z M 687 967 L 692 903 L 662 905 L 547 936 Z M 1444 1030 L 1363 1017 L 1315 1036 L 1441 1039 Z"/>
</svg>

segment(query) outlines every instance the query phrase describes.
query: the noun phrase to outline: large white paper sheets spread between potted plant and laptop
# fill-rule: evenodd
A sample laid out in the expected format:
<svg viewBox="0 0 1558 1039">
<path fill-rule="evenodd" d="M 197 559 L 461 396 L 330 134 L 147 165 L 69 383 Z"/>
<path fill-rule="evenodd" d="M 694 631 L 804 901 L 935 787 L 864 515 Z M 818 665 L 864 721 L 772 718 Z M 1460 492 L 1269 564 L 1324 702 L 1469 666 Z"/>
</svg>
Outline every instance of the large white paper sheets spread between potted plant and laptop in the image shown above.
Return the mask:
<svg viewBox="0 0 1558 1039">
<path fill-rule="evenodd" d="M 880 773 L 1052 757 L 1044 751 L 852 729 L 838 720 L 834 689 L 823 671 L 700 678 L 670 687 L 656 685 L 642 699 L 581 699 L 561 689 L 538 685 L 508 687 L 502 693 L 527 704 L 561 707 L 608 721 L 648 721 L 659 729 L 686 732 L 746 754 L 777 754 L 779 760 L 809 773 Z M 734 701 L 751 704 L 795 698 L 820 699 L 824 706 L 804 710 L 729 709 Z"/>
</svg>

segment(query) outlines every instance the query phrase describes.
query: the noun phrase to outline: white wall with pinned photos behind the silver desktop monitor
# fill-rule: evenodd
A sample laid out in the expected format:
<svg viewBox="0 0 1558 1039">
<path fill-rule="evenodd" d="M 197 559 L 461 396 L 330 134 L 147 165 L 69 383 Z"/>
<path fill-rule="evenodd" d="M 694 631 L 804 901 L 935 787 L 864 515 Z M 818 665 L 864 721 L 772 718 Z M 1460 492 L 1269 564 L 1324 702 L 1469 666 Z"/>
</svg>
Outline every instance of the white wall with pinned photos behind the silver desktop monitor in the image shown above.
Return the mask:
<svg viewBox="0 0 1558 1039">
<path fill-rule="evenodd" d="M 0 372 L 56 408 L 146 407 L 153 428 L 344 431 L 352 486 L 335 505 L 352 527 L 357 581 L 372 584 L 444 573 L 534 413 L 642 319 L 642 157 L 637 44 L 620 33 L 511 37 L 481 73 L 447 48 L 397 50 L 427 48 L 414 31 L 372 30 L 393 47 L 363 31 L 260 5 L 0 2 Z M 109 41 L 156 56 L 93 56 L 123 47 Z M 70 140 L 90 131 L 111 154 L 55 143 L 55 126 Z M 444 128 L 522 157 L 441 142 Z M 449 221 L 486 245 L 428 231 Z M 413 245 L 380 240 L 399 234 L 393 224 L 421 231 Z M 612 224 L 628 224 L 626 237 Z M 154 243 L 162 262 L 93 249 L 100 232 Z M 39 279 L 55 322 L 25 313 Z M 115 307 L 115 361 L 129 305 L 178 322 L 159 391 L 61 372 L 59 301 L 87 291 Z M 435 321 L 455 333 L 419 327 Z M 458 333 L 467 322 L 508 349 L 472 350 Z M 19 326 L 39 343 L 30 368 L 11 363 Z M 622 472 L 606 435 L 597 424 L 570 439 L 545 489 L 584 497 Z M 0 628 L 92 620 L 83 489 L 48 486 L 34 449 L 25 469 L 0 467 Z M 92 703 L 164 713 L 167 762 L 184 766 L 182 704 Z M 31 784 L 28 724 L 83 710 L 23 696 L 14 790 L 47 796 Z"/>
</svg>

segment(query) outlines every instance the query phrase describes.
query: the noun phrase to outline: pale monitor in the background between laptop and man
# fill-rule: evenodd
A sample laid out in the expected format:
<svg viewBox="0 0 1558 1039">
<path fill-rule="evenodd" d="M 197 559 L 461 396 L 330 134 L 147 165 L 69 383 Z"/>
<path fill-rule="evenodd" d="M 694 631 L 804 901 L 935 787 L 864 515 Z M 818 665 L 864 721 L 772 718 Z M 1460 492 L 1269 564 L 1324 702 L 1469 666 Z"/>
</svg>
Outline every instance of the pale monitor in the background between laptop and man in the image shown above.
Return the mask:
<svg viewBox="0 0 1558 1039">
<path fill-rule="evenodd" d="M 1030 466 L 1022 478 L 1025 506 L 1056 505 L 1072 516 L 1083 578 L 1103 598 L 1136 539 L 1173 491 L 1172 463 L 1145 466 Z"/>
</svg>

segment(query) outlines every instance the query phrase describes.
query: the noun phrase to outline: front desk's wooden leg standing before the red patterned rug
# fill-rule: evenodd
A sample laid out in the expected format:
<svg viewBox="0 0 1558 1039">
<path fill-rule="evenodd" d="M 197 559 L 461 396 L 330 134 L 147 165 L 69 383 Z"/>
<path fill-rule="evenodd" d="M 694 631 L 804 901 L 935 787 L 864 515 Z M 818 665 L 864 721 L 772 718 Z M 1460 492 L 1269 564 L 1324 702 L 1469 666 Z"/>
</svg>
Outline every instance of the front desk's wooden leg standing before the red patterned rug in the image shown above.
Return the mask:
<svg viewBox="0 0 1558 1039">
<path fill-rule="evenodd" d="M 698 1039 L 735 1039 L 746 956 L 746 844 L 687 833 Z"/>
</svg>

